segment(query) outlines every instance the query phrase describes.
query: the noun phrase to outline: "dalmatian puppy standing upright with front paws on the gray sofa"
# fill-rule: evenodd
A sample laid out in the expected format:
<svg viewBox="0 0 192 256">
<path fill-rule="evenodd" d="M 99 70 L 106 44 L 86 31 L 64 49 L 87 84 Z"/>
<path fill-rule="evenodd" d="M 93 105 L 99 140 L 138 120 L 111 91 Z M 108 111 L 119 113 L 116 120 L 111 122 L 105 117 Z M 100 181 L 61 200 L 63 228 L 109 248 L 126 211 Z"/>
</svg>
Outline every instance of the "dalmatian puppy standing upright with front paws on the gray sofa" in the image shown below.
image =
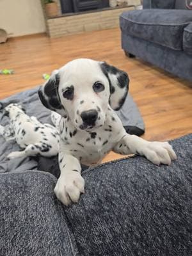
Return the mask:
<svg viewBox="0 0 192 256">
<path fill-rule="evenodd" d="M 38 94 L 46 108 L 60 114 L 60 177 L 54 192 L 63 204 L 84 193 L 81 164 L 100 163 L 110 150 L 140 154 L 154 164 L 176 159 L 168 142 L 127 134 L 114 110 L 124 104 L 129 77 L 106 62 L 77 59 L 61 67 Z"/>
</svg>

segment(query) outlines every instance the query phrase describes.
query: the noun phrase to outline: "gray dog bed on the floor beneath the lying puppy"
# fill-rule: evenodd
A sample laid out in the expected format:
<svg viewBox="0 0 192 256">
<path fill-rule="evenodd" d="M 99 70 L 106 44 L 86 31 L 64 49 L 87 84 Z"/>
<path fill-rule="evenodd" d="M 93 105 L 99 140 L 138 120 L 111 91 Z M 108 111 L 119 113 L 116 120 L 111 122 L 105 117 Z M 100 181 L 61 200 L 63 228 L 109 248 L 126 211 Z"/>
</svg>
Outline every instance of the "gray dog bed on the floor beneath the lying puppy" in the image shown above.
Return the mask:
<svg viewBox="0 0 192 256">
<path fill-rule="evenodd" d="M 51 115 L 49 109 L 46 109 L 38 99 L 38 88 L 21 92 L 7 99 L 1 100 L 1 105 L 7 106 L 12 102 L 19 102 L 26 109 L 29 116 L 36 116 L 42 123 L 51 124 Z M 3 109 L 1 109 L 3 111 Z M 132 100 L 131 95 L 127 96 L 125 104 L 120 111 L 116 111 L 127 132 L 140 136 L 145 131 L 143 119 L 140 115 L 136 104 Z M 4 116 L 1 118 L 0 124 L 7 125 L 9 118 Z M 7 160 L 6 156 L 12 151 L 20 150 L 20 147 L 15 141 L 6 142 L 0 136 L 0 172 L 22 172 L 25 170 L 52 170 L 51 173 L 58 177 L 58 157 L 51 157 L 50 159 L 44 157 L 27 157 Z"/>
</svg>

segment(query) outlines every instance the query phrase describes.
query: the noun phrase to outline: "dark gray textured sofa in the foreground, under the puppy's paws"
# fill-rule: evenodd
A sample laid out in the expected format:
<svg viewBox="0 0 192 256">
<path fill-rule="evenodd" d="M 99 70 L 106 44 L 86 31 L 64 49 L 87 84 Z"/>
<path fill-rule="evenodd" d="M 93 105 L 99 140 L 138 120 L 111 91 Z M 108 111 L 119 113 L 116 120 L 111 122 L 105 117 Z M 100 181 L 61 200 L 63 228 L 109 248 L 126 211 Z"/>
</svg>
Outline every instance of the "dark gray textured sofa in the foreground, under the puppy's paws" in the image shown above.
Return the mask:
<svg viewBox="0 0 192 256">
<path fill-rule="evenodd" d="M 191 255 L 192 136 L 171 144 L 172 166 L 136 156 L 84 171 L 70 207 L 49 173 L 1 173 L 0 255 Z"/>
</svg>

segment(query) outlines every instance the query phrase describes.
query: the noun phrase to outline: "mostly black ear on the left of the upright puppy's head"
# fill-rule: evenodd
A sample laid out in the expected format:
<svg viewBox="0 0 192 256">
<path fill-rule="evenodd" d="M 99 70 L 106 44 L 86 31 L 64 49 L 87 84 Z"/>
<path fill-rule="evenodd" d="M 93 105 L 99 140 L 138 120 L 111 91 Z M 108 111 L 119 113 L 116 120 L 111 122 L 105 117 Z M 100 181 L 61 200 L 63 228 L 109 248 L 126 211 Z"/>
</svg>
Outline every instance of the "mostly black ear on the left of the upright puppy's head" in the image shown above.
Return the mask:
<svg viewBox="0 0 192 256">
<path fill-rule="evenodd" d="M 60 84 L 60 75 L 54 72 L 49 80 L 39 88 L 38 97 L 45 108 L 58 112 L 61 116 L 66 116 L 65 108 L 61 105 L 58 87 Z"/>
</svg>

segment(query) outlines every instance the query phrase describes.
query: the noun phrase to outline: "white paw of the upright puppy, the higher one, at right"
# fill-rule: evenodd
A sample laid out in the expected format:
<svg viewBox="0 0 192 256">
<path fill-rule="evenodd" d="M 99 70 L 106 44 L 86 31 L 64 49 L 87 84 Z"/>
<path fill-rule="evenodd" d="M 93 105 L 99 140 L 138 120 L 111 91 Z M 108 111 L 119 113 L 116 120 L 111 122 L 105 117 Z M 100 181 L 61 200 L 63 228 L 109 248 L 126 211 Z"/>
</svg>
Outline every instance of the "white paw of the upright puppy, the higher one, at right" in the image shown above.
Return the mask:
<svg viewBox="0 0 192 256">
<path fill-rule="evenodd" d="M 149 161 L 154 164 L 167 164 L 170 165 L 177 156 L 168 142 L 147 142 L 141 148 L 141 152 Z"/>
</svg>

